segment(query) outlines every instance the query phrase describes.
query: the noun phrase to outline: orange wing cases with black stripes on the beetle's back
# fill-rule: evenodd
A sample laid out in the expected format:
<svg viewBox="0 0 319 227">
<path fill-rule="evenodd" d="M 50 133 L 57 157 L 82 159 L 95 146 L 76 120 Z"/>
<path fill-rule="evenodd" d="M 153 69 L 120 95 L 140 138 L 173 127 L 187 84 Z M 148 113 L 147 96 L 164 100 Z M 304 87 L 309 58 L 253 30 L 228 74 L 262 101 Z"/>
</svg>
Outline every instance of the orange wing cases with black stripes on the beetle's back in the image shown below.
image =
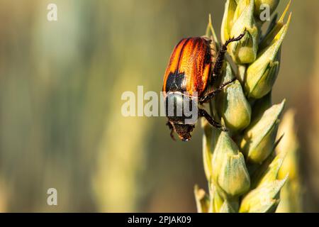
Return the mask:
<svg viewBox="0 0 319 227">
<path fill-rule="evenodd" d="M 184 38 L 174 48 L 164 74 L 163 92 L 203 94 L 211 74 L 211 40 Z"/>
</svg>

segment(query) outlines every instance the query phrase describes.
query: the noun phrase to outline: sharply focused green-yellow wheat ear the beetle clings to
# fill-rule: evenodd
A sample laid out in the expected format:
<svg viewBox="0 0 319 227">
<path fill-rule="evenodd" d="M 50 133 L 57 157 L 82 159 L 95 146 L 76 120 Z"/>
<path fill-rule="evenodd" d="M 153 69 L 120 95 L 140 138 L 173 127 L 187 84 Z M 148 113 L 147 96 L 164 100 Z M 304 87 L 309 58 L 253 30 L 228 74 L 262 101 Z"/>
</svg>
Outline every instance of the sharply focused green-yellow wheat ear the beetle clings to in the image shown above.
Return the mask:
<svg viewBox="0 0 319 227">
<path fill-rule="evenodd" d="M 220 84 L 236 81 L 210 104 L 211 114 L 228 128 L 212 128 L 203 119 L 203 165 L 208 193 L 195 187 L 198 212 L 274 212 L 288 175 L 279 170 L 288 150 L 275 152 L 279 118 L 285 100 L 272 104 L 272 87 L 279 74 L 281 45 L 291 21 L 284 22 L 290 2 L 278 21 L 276 16 L 262 35 L 262 4 L 273 13 L 279 0 L 227 0 L 221 26 L 221 42 L 246 31 L 228 54 L 237 69 L 225 61 Z M 208 23 L 206 35 L 215 40 Z"/>
</svg>

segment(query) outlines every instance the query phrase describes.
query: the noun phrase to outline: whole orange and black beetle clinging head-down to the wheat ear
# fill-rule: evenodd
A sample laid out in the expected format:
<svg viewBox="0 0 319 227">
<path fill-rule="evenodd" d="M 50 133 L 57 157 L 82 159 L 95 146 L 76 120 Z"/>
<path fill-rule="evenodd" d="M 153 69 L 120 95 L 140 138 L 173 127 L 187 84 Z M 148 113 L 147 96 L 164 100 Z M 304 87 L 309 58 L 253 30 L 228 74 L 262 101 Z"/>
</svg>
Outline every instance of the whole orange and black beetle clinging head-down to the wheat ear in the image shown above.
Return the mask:
<svg viewBox="0 0 319 227">
<path fill-rule="evenodd" d="M 197 117 L 204 117 L 212 126 L 227 131 L 215 121 L 211 115 L 200 106 L 210 101 L 213 96 L 222 91 L 225 86 L 235 81 L 232 79 L 220 87 L 210 90 L 216 79 L 221 74 L 223 60 L 229 43 L 239 41 L 245 32 L 237 38 L 226 40 L 220 47 L 216 55 L 216 50 L 211 48 L 213 40 L 206 37 L 183 38 L 175 46 L 169 63 L 164 74 L 162 92 L 166 104 L 167 126 L 169 127 L 171 137 L 174 140 L 173 133 L 177 133 L 183 141 L 191 139 L 191 132 L 195 128 L 195 123 L 185 123 L 187 118 L 184 111 L 177 116 L 169 114 L 168 104 L 172 101 L 174 109 L 181 109 L 185 105 L 184 101 L 196 101 L 199 104 L 195 106 Z"/>
</svg>

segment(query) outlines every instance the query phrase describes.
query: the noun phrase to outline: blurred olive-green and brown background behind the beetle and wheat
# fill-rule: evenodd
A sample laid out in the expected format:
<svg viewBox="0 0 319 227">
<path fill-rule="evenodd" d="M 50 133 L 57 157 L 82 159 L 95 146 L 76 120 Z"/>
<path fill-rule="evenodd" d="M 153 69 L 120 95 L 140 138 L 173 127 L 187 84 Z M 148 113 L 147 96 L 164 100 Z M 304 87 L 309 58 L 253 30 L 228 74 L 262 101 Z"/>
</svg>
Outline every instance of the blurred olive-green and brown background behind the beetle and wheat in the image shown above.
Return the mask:
<svg viewBox="0 0 319 227">
<path fill-rule="evenodd" d="M 208 13 L 219 34 L 224 3 L 0 0 L 0 211 L 196 211 L 201 128 L 174 142 L 165 118 L 123 117 L 121 94 L 159 92 L 174 45 Z M 292 1 L 273 92 L 296 109 L 304 211 L 319 211 L 318 9 Z"/>
</svg>

